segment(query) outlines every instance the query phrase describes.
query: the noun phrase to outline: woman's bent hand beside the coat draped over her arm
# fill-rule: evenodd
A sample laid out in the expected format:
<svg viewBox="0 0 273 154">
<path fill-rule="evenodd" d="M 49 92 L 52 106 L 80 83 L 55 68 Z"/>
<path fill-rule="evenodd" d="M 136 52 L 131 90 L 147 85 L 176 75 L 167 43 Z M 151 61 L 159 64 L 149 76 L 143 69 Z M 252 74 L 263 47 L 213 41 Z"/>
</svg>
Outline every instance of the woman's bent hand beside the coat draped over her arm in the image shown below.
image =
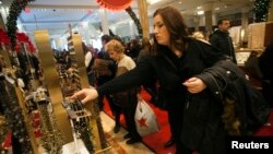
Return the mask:
<svg viewBox="0 0 273 154">
<path fill-rule="evenodd" d="M 200 80 L 199 78 L 190 78 L 189 80 L 187 80 L 182 84 L 185 86 L 187 86 L 187 88 L 190 93 L 193 93 L 193 94 L 200 93 L 206 87 L 204 82 L 202 80 Z"/>
</svg>

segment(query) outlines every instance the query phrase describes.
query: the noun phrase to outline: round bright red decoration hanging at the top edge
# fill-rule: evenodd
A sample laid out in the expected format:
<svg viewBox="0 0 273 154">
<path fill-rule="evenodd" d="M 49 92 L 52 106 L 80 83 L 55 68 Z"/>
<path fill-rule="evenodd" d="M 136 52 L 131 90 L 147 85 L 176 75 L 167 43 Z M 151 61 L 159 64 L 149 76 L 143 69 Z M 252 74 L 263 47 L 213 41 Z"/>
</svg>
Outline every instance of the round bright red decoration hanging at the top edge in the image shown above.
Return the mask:
<svg viewBox="0 0 273 154">
<path fill-rule="evenodd" d="M 132 0 L 96 0 L 105 9 L 111 11 L 121 11 L 131 5 Z"/>
</svg>

